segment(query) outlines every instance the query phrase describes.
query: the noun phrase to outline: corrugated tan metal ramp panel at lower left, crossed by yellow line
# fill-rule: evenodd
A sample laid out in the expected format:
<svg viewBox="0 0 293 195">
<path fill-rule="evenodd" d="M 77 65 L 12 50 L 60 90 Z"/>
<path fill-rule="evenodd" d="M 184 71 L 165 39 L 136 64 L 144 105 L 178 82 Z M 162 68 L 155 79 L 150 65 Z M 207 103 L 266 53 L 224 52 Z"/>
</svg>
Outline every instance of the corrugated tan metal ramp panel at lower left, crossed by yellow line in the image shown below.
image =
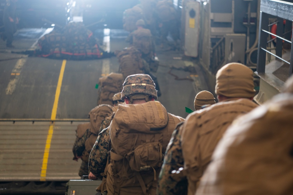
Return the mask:
<svg viewBox="0 0 293 195">
<path fill-rule="evenodd" d="M 46 181 L 80 179 L 73 161 L 75 130 L 82 122 L 55 122 Z M 0 122 L 0 181 L 40 181 L 50 122 Z"/>
</svg>

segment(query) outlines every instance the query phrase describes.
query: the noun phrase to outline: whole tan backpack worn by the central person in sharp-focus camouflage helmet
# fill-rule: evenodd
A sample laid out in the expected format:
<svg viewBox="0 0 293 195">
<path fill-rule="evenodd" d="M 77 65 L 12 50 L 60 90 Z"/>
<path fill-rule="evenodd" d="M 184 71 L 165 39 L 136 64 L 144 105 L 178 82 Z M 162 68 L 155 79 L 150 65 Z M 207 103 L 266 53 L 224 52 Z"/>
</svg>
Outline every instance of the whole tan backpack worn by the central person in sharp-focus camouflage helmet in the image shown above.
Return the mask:
<svg viewBox="0 0 293 195">
<path fill-rule="evenodd" d="M 163 154 L 183 120 L 158 101 L 119 105 L 109 126 L 108 194 L 155 194 Z"/>
</svg>

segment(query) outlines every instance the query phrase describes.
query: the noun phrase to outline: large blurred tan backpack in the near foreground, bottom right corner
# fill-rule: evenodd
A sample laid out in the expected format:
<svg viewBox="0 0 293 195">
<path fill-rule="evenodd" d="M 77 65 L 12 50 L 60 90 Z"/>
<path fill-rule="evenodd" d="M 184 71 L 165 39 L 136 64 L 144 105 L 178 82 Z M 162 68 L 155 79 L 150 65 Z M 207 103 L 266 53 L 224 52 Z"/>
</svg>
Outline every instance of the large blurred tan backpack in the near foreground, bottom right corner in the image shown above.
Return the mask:
<svg viewBox="0 0 293 195">
<path fill-rule="evenodd" d="M 293 194 L 293 95 L 279 94 L 228 128 L 197 195 Z"/>
</svg>

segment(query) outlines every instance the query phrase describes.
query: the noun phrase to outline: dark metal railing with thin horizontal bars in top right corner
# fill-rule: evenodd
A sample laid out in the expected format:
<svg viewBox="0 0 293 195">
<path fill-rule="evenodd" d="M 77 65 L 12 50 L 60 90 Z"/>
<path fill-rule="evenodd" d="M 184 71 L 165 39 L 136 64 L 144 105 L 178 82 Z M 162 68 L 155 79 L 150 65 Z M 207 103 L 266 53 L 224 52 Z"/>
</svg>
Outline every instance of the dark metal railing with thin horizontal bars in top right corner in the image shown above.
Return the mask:
<svg viewBox="0 0 293 195">
<path fill-rule="evenodd" d="M 276 18 L 276 22 L 269 24 L 269 18 Z M 285 27 L 283 21 L 285 22 Z M 266 55 L 272 55 L 277 60 L 281 60 L 290 65 L 289 75 L 293 73 L 293 58 L 292 58 L 292 21 L 293 21 L 293 3 L 279 0 L 261 0 L 260 3 L 260 28 L 258 39 L 258 59 L 256 72 L 265 73 Z M 276 33 L 269 31 L 269 27 L 277 25 Z M 284 32 L 285 31 L 285 32 Z M 284 32 L 284 33 L 283 33 Z M 269 38 L 270 35 L 275 38 Z M 291 40 L 290 40 L 291 39 Z M 272 53 L 267 49 L 268 43 L 276 40 L 276 53 Z M 282 58 L 282 50 L 284 44 L 291 44 L 290 62 Z"/>
</svg>

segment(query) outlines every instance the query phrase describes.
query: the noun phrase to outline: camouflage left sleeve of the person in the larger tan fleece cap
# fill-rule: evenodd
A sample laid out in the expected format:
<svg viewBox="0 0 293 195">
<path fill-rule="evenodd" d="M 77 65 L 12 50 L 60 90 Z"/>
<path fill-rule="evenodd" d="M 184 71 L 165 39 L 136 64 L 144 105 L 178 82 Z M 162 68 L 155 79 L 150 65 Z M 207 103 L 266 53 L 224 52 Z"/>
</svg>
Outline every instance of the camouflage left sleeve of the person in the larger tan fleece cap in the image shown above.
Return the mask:
<svg viewBox="0 0 293 195">
<path fill-rule="evenodd" d="M 175 173 L 175 171 L 183 167 L 184 163 L 180 142 L 181 127 L 183 123 L 184 122 L 178 123 L 167 146 L 164 162 L 158 179 L 158 195 L 187 194 L 186 176 Z"/>
</svg>

